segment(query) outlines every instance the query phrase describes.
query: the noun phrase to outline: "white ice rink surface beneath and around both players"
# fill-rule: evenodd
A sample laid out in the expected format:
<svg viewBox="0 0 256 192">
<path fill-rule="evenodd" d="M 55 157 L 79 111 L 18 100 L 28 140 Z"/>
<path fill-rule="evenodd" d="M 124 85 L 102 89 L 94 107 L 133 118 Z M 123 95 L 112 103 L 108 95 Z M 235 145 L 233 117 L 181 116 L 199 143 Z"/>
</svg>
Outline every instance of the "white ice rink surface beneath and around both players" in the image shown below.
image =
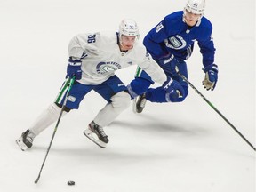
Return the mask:
<svg viewBox="0 0 256 192">
<path fill-rule="evenodd" d="M 88 94 L 79 110 L 60 121 L 41 178 L 36 180 L 55 124 L 33 148 L 15 144 L 21 132 L 55 99 L 64 80 L 68 42 L 77 33 L 117 30 L 133 18 L 140 41 L 182 1 L 1 0 L 0 191 L 255 192 L 255 151 L 194 90 L 179 104 L 132 106 L 105 128 L 99 148 L 84 137 L 105 101 Z M 188 60 L 189 80 L 255 146 L 255 1 L 207 1 L 219 82 L 201 85 L 197 45 Z M 119 71 L 125 84 L 134 68 Z M 76 181 L 70 187 L 68 180 Z"/>
</svg>

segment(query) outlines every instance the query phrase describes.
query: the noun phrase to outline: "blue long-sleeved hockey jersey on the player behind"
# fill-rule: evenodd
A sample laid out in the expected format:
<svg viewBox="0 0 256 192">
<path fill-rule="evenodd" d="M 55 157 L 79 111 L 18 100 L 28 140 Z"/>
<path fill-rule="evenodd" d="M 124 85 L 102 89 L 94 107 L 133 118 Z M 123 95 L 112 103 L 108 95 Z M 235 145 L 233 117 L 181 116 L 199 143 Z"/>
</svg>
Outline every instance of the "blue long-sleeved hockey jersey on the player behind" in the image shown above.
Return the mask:
<svg viewBox="0 0 256 192">
<path fill-rule="evenodd" d="M 203 55 L 204 67 L 212 65 L 215 53 L 212 23 L 203 17 L 194 27 L 189 27 L 183 21 L 183 11 L 167 15 L 143 40 L 143 44 L 155 60 L 169 52 L 177 60 L 187 60 L 193 52 L 195 42 Z"/>
</svg>

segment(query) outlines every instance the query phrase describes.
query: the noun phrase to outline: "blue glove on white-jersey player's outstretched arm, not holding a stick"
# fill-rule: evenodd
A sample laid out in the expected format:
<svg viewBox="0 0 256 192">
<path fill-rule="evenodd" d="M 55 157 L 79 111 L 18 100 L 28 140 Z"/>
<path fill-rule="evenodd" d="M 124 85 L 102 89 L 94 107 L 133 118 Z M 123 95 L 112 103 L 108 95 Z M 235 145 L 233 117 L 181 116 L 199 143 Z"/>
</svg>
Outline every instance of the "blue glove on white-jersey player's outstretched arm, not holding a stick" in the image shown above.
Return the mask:
<svg viewBox="0 0 256 192">
<path fill-rule="evenodd" d="M 181 84 L 169 76 L 167 76 L 167 80 L 164 82 L 162 87 L 164 88 L 166 94 L 169 95 L 172 102 L 176 101 L 178 98 L 182 98 L 183 95 L 185 95 L 185 91 Z"/>
</svg>

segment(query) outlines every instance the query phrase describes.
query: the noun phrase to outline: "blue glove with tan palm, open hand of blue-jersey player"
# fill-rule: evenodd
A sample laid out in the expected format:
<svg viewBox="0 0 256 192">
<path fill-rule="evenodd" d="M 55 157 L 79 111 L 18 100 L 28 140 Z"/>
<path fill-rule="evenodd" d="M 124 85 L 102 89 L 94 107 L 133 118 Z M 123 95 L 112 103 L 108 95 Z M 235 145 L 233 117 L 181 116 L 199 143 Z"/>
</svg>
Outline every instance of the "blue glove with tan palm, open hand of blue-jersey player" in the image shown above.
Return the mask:
<svg viewBox="0 0 256 192">
<path fill-rule="evenodd" d="M 204 89 L 206 89 L 207 91 L 213 91 L 218 81 L 218 66 L 212 64 L 203 68 L 203 70 L 205 73 L 204 81 L 202 82 L 204 85 Z"/>
</svg>

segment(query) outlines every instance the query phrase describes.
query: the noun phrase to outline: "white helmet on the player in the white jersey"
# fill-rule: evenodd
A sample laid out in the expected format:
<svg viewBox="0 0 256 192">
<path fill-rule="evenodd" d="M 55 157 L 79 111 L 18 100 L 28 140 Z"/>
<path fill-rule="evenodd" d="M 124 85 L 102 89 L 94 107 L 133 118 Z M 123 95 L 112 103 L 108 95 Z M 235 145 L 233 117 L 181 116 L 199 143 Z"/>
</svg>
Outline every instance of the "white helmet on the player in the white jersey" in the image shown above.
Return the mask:
<svg viewBox="0 0 256 192">
<path fill-rule="evenodd" d="M 121 36 L 137 36 L 139 38 L 139 28 L 135 20 L 132 19 L 124 19 L 121 21 L 119 25 L 119 38 Z"/>
</svg>

